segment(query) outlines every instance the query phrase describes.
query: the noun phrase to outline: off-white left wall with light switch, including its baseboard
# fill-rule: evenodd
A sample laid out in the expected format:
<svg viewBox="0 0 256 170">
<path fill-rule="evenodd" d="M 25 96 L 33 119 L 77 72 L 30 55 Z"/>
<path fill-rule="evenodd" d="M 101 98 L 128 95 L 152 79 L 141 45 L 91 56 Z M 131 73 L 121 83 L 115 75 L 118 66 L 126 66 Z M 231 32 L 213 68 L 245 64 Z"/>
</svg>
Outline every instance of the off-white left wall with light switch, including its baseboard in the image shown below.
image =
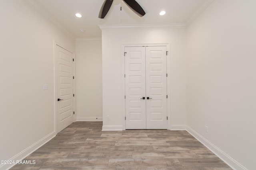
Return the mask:
<svg viewBox="0 0 256 170">
<path fill-rule="evenodd" d="M 1 0 L 0 21 L 0 160 L 16 161 L 55 135 L 53 44 L 75 43 L 22 0 Z"/>
</svg>

